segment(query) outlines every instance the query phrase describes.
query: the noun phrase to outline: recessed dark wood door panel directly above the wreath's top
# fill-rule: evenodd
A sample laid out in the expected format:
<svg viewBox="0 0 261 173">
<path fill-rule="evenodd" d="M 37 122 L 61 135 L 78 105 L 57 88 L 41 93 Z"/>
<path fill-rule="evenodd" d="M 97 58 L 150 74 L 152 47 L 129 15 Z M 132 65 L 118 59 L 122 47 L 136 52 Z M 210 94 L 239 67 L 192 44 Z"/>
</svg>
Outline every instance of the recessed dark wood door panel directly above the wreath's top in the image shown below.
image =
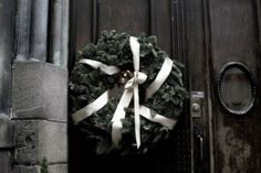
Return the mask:
<svg viewBox="0 0 261 173">
<path fill-rule="evenodd" d="M 115 30 L 137 35 L 148 32 L 147 0 L 103 0 L 98 4 L 98 32 Z"/>
</svg>

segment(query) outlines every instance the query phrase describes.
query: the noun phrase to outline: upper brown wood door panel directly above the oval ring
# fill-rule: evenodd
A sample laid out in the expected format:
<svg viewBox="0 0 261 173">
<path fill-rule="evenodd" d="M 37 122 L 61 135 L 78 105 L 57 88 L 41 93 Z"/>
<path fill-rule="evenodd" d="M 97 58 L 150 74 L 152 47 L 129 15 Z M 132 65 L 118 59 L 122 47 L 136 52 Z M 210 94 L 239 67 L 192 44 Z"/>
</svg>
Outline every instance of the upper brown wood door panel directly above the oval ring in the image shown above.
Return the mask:
<svg viewBox="0 0 261 173">
<path fill-rule="evenodd" d="M 238 61 L 257 72 L 257 20 L 249 0 L 211 0 L 212 58 L 216 72 Z"/>
</svg>

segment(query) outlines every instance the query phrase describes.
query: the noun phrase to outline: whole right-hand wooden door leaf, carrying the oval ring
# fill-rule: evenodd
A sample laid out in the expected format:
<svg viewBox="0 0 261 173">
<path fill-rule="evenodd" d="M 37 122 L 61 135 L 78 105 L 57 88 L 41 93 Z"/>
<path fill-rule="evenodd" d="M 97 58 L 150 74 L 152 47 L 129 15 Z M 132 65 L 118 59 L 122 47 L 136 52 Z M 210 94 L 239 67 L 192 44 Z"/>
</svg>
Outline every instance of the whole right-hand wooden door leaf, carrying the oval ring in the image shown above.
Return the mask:
<svg viewBox="0 0 261 173">
<path fill-rule="evenodd" d="M 209 153 L 203 155 L 202 162 L 195 158 L 194 170 L 261 172 L 260 1 L 188 0 L 187 4 L 190 89 L 205 91 L 202 115 L 192 117 L 192 127 L 202 136 L 201 150 Z M 228 63 L 242 63 L 249 75 L 247 71 L 242 73 L 234 68 L 232 73 L 230 68 L 231 74 L 227 71 L 220 84 L 220 72 Z M 232 78 L 237 80 L 234 87 Z M 252 90 L 257 87 L 255 96 L 251 93 L 251 78 L 255 83 L 252 84 Z M 246 85 L 249 85 L 248 89 Z M 246 91 L 257 97 L 251 110 L 247 113 L 231 111 L 249 101 Z M 243 106 L 240 109 L 243 110 Z M 197 139 L 194 153 L 198 155 L 200 149 L 196 144 Z"/>
</svg>

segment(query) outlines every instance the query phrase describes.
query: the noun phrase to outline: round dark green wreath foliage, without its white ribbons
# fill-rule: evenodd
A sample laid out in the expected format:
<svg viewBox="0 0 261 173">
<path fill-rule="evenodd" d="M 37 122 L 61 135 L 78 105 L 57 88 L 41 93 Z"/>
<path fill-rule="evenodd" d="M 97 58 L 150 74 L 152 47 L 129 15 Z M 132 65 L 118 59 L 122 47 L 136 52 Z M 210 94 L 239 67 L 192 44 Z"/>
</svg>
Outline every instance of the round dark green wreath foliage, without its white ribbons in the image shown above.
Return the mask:
<svg viewBox="0 0 261 173">
<path fill-rule="evenodd" d="M 96 154 L 107 154 L 113 151 L 117 151 L 119 154 L 146 153 L 170 134 L 170 130 L 167 127 L 140 117 L 142 145 L 137 150 L 132 104 L 128 108 L 125 108 L 126 117 L 122 119 L 123 129 L 119 148 L 113 147 L 111 120 L 118 105 L 124 84 L 132 77 L 130 72 L 134 71 L 129 36 L 128 33 L 118 33 L 114 30 L 102 32 L 97 44 L 90 43 L 80 51 L 70 76 L 72 112 L 93 102 L 107 89 L 114 90 L 112 91 L 114 94 L 109 96 L 109 101 L 102 109 L 77 123 L 80 131 L 91 143 L 94 143 Z M 139 72 L 147 75 L 145 83 L 139 85 L 139 102 L 150 108 L 152 112 L 177 120 L 182 112 L 184 100 L 187 97 L 180 71 L 182 65 L 174 61 L 167 79 L 150 98 L 145 99 L 145 89 L 155 80 L 164 60 L 168 55 L 158 47 L 156 36 L 143 34 L 138 36 L 137 41 L 140 44 Z M 107 75 L 103 71 L 80 63 L 84 58 L 117 66 L 121 72 Z M 119 91 L 118 89 L 122 90 Z"/>
</svg>

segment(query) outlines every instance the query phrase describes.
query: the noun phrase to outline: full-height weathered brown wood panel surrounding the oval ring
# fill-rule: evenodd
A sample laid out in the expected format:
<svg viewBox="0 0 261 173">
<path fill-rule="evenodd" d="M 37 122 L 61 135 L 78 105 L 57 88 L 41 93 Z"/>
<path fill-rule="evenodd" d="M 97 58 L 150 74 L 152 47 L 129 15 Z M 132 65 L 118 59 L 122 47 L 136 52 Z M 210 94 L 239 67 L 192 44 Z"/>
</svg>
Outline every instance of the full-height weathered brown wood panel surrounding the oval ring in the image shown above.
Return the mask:
<svg viewBox="0 0 261 173">
<path fill-rule="evenodd" d="M 259 75 L 259 41 L 255 6 L 249 0 L 210 0 L 213 77 L 227 62 L 248 66 L 255 79 Z M 213 83 L 213 85 L 217 85 Z M 243 83 L 242 83 L 243 85 Z M 242 86 L 241 86 L 242 87 Z M 216 88 L 215 88 L 216 89 Z M 231 93 L 230 93 L 231 94 Z M 238 91 L 233 95 L 241 95 Z M 246 98 L 247 99 L 247 98 Z M 252 111 L 243 116 L 226 111 L 218 97 L 215 101 L 215 144 L 217 172 L 261 172 L 261 118 L 259 99 Z"/>
</svg>

